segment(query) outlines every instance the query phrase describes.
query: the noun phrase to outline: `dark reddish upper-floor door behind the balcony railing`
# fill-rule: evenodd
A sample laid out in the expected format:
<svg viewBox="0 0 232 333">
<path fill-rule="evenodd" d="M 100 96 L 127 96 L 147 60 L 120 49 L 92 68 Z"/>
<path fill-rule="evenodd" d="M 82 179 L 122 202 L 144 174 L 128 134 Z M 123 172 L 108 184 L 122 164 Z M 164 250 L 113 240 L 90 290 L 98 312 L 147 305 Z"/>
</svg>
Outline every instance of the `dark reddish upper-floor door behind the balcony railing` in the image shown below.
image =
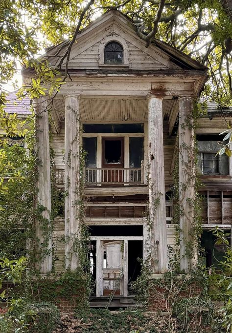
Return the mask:
<svg viewBox="0 0 232 333">
<path fill-rule="evenodd" d="M 124 181 L 124 138 L 102 138 L 102 174 L 104 183 Z"/>
</svg>

